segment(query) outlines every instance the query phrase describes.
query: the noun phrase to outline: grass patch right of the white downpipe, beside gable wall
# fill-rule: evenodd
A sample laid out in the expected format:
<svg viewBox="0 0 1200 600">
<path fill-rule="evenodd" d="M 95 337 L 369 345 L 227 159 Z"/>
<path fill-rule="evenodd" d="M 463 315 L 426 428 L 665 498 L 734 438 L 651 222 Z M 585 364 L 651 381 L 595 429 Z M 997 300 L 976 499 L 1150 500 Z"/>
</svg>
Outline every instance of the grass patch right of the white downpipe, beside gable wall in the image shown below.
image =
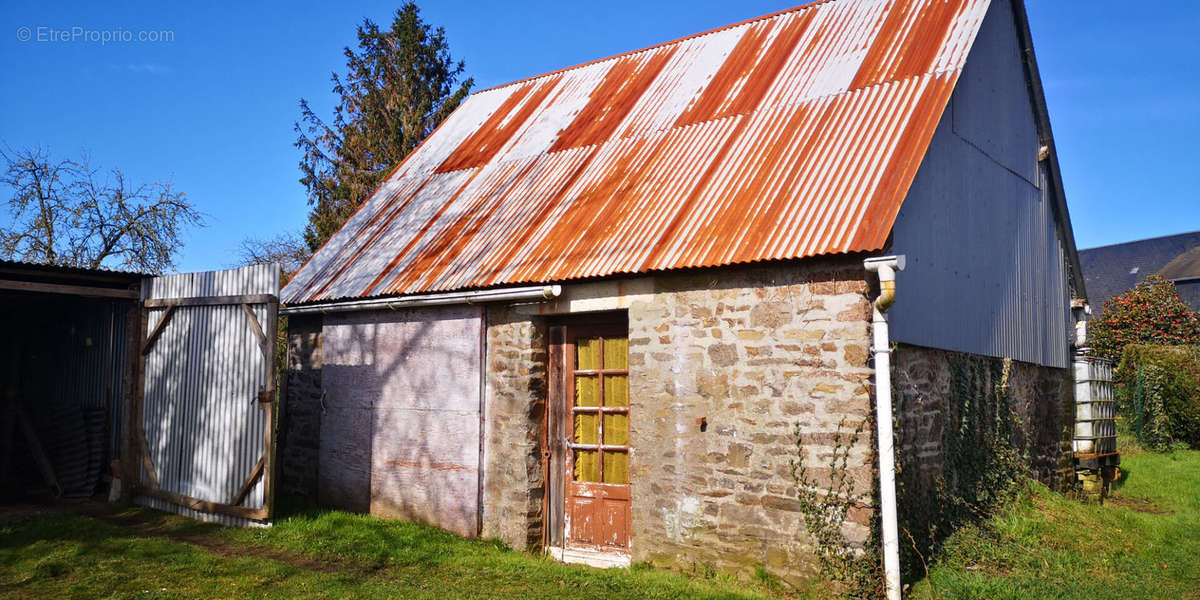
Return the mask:
<svg viewBox="0 0 1200 600">
<path fill-rule="evenodd" d="M 913 599 L 1200 599 L 1200 451 L 1123 449 L 1104 505 L 1030 485 L 955 533 Z"/>
</svg>

